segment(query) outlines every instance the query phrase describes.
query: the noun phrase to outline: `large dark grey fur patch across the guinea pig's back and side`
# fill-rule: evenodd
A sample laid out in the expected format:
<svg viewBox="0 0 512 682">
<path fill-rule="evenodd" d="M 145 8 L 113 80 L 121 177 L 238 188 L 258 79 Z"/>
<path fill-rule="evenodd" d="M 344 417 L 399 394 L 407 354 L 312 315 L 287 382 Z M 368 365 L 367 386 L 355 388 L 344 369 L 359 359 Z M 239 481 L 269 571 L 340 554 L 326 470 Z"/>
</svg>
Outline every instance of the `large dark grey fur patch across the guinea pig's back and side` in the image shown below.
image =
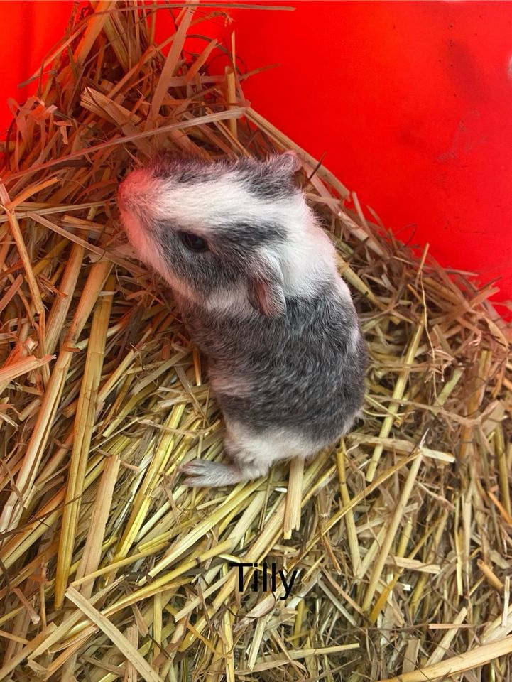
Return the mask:
<svg viewBox="0 0 512 682">
<path fill-rule="evenodd" d="M 182 306 L 215 373 L 240 374 L 253 387 L 249 396 L 217 396 L 228 421 L 256 432 L 294 428 L 318 449 L 352 427 L 363 401 L 366 345 L 359 335 L 354 348 L 358 320 L 333 289 L 327 284 L 312 298 L 287 297 L 286 314 L 272 319 Z"/>
</svg>

